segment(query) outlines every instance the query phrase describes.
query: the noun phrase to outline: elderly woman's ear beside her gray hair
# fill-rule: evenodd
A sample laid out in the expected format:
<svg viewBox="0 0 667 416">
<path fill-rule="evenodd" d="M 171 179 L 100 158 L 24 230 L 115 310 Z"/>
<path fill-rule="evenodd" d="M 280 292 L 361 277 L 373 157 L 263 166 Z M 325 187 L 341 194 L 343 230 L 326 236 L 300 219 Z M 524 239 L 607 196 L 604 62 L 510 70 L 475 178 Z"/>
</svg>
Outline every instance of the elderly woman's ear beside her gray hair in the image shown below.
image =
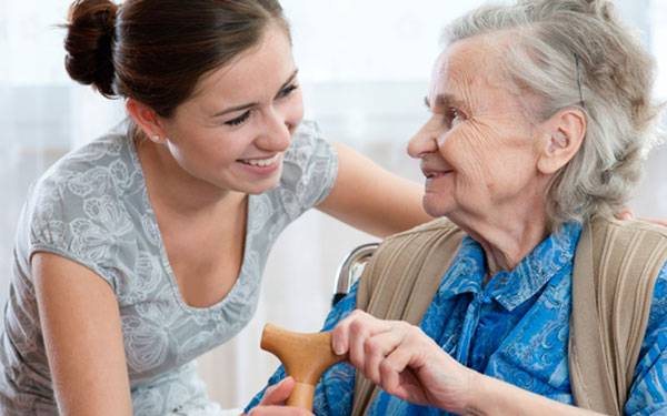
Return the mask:
<svg viewBox="0 0 667 416">
<path fill-rule="evenodd" d="M 558 111 L 540 126 L 537 169 L 554 174 L 579 151 L 586 136 L 586 115 L 580 109 Z"/>
</svg>

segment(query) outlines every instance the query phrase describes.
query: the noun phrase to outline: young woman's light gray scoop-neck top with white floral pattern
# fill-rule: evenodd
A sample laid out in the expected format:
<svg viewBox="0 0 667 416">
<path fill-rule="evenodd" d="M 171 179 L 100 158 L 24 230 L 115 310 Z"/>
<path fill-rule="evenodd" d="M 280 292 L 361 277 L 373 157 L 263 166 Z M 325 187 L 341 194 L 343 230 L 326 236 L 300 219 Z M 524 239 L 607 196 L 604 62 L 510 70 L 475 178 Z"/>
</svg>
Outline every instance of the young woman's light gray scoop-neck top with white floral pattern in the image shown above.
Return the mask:
<svg viewBox="0 0 667 416">
<path fill-rule="evenodd" d="M 193 359 L 248 323 L 273 241 L 329 194 L 337 173 L 334 148 L 303 122 L 279 185 L 249 199 L 237 283 L 218 304 L 195 308 L 180 296 L 127 125 L 64 156 L 37 181 L 21 213 L 0 338 L 0 414 L 58 414 L 31 282 L 36 252 L 80 263 L 115 290 L 136 415 L 217 414 Z"/>
</svg>

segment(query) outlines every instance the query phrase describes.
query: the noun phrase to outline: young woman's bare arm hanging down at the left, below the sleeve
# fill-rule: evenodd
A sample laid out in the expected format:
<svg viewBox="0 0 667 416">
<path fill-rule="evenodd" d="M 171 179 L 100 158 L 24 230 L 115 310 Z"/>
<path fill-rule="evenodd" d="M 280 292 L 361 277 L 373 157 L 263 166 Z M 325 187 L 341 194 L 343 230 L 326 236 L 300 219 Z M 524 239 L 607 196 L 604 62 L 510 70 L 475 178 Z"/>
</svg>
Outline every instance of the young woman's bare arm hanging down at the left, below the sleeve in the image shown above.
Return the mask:
<svg viewBox="0 0 667 416">
<path fill-rule="evenodd" d="M 49 253 L 33 255 L 32 271 L 60 413 L 131 415 L 120 313 L 109 284 Z"/>
</svg>

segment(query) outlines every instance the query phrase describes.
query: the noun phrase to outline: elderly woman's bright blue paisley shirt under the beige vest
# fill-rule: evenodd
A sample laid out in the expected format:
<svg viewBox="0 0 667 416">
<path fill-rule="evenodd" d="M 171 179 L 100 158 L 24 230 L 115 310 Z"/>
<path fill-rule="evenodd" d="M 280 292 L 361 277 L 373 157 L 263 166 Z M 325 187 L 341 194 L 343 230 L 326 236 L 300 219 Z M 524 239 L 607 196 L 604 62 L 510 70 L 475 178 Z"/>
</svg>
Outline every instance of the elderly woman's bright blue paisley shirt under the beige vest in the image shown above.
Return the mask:
<svg viewBox="0 0 667 416">
<path fill-rule="evenodd" d="M 571 277 L 581 226 L 566 224 L 542 241 L 511 272 L 487 274 L 481 246 L 465 237 L 447 271 L 421 329 L 461 364 L 524 389 L 573 404 L 568 369 Z M 355 308 L 356 287 L 330 312 L 331 329 Z M 269 385 L 285 377 L 280 367 Z M 355 368 L 331 367 L 317 386 L 317 415 L 349 415 Z M 248 409 L 256 406 L 260 393 Z M 667 264 L 656 283 L 647 332 L 624 413 L 667 415 Z M 385 392 L 369 415 L 445 415 Z"/>
</svg>

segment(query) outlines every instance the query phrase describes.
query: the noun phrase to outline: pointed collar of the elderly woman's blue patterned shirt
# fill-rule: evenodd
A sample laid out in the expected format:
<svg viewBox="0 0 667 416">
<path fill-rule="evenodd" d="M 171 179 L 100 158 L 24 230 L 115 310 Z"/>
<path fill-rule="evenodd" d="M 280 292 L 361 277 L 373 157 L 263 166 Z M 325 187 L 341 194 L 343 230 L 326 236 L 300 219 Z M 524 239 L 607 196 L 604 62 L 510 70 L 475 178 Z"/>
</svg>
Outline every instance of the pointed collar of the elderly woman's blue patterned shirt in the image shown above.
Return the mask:
<svg viewBox="0 0 667 416">
<path fill-rule="evenodd" d="M 539 292 L 566 265 L 571 266 L 580 233 L 579 223 L 563 225 L 524 257 L 515 270 L 497 273 L 486 287 L 484 250 L 470 236 L 465 236 L 452 266 L 442 277 L 437 296 L 448 298 L 462 293 L 484 292 L 511 311 Z"/>
</svg>

